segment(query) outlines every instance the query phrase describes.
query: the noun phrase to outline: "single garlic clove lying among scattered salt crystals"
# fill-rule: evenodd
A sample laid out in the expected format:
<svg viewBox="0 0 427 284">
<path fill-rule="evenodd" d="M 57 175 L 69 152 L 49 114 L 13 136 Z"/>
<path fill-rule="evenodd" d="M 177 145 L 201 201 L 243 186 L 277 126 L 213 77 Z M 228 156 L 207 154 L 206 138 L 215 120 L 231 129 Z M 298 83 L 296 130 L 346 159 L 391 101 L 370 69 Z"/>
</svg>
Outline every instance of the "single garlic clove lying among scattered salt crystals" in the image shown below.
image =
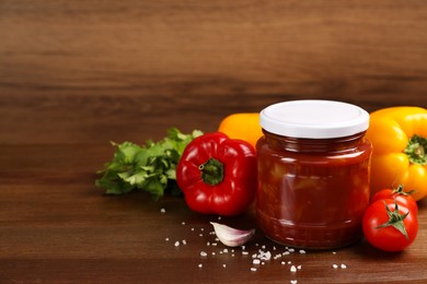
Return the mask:
<svg viewBox="0 0 427 284">
<path fill-rule="evenodd" d="M 239 247 L 246 244 L 255 235 L 255 229 L 238 229 L 223 224 L 210 222 L 218 239 L 228 247 Z"/>
</svg>

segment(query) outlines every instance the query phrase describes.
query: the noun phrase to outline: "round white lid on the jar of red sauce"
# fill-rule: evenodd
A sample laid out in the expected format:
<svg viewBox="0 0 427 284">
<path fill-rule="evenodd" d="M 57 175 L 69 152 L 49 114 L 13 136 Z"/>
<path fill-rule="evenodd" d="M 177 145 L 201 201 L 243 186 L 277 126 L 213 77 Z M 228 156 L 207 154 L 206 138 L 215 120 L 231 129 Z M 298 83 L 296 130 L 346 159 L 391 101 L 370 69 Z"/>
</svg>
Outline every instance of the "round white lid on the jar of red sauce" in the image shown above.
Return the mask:
<svg viewBox="0 0 427 284">
<path fill-rule="evenodd" d="M 369 114 L 347 103 L 302 99 L 264 108 L 259 122 L 264 130 L 278 135 L 330 139 L 366 131 L 369 127 Z"/>
</svg>

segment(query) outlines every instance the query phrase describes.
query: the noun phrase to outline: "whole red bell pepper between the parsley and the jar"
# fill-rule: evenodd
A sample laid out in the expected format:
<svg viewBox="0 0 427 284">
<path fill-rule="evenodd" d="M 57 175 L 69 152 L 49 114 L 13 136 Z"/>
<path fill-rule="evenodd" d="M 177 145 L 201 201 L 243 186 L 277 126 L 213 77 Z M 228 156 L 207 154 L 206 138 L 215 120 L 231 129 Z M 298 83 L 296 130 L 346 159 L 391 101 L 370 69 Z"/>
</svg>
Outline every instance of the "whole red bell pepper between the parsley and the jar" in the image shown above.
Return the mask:
<svg viewBox="0 0 427 284">
<path fill-rule="evenodd" d="M 187 205 L 199 213 L 239 215 L 255 199 L 255 149 L 220 132 L 194 139 L 176 166 L 176 181 Z"/>
</svg>

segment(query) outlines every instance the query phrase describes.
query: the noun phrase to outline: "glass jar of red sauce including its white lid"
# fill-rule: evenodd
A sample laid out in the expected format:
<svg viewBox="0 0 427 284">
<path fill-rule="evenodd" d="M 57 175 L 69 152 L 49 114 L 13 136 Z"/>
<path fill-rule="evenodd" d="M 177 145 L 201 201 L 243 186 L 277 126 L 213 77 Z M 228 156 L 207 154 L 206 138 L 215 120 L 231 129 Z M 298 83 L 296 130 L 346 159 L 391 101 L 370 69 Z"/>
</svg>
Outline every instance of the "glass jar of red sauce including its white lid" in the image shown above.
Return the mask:
<svg viewBox="0 0 427 284">
<path fill-rule="evenodd" d="M 332 249 L 361 237 L 369 203 L 369 114 L 333 100 L 292 100 L 261 113 L 258 227 L 292 247 Z"/>
</svg>

